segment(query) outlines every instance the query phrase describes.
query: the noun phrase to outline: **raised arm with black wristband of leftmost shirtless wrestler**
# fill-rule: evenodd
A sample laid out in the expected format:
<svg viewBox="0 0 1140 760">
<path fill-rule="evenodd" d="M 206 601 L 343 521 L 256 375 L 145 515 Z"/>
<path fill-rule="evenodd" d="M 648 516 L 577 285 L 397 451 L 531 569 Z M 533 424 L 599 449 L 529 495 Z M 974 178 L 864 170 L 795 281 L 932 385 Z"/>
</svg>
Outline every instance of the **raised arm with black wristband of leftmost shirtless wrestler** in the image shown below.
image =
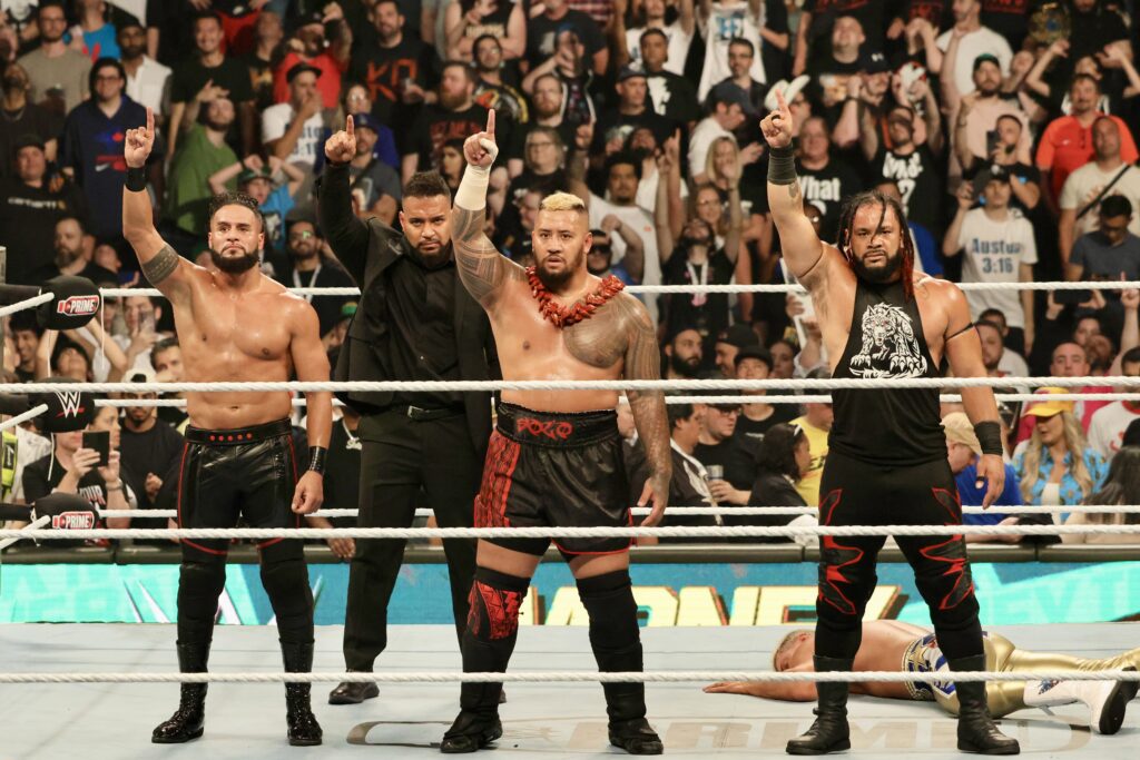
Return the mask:
<svg viewBox="0 0 1140 760">
<path fill-rule="evenodd" d="M 154 113 L 146 109 L 146 125 L 127 130 L 123 157 L 123 237 L 135 248 L 142 273 L 150 285 L 173 301 L 186 294 L 193 264 L 171 248 L 154 228 L 154 210 L 146 191 L 146 161 L 154 148 Z"/>
</svg>

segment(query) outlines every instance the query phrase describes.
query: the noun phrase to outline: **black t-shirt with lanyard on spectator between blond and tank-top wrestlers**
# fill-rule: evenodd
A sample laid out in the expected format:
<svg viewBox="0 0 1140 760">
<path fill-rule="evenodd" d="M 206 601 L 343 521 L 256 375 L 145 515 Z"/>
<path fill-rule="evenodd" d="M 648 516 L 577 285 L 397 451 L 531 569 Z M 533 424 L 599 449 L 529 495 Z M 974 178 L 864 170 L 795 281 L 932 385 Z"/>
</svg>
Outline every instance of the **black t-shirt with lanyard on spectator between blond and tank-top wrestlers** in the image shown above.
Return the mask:
<svg viewBox="0 0 1140 760">
<path fill-rule="evenodd" d="M 703 264 L 690 264 L 685 252 L 676 251 L 662 267 L 661 281 L 665 285 L 727 285 L 734 269 L 724 248 Z M 668 325 L 666 334 L 675 335 L 684 327 L 695 327 L 705 338 L 707 358 L 711 356 L 709 342 L 728 326 L 727 293 L 671 293 L 661 299 L 661 308 Z"/>
</svg>

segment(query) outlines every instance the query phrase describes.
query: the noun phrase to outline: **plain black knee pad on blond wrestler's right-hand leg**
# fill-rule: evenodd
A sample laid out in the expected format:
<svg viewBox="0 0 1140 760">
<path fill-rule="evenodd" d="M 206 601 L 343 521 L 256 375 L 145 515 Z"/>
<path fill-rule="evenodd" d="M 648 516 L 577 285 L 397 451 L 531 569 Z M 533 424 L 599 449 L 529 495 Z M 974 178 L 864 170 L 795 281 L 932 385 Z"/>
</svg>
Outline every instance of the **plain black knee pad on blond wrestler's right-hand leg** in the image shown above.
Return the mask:
<svg viewBox="0 0 1140 760">
<path fill-rule="evenodd" d="M 578 597 L 589 613 L 589 643 L 598 668 L 641 670 L 641 629 L 629 571 L 579 579 Z"/>
</svg>

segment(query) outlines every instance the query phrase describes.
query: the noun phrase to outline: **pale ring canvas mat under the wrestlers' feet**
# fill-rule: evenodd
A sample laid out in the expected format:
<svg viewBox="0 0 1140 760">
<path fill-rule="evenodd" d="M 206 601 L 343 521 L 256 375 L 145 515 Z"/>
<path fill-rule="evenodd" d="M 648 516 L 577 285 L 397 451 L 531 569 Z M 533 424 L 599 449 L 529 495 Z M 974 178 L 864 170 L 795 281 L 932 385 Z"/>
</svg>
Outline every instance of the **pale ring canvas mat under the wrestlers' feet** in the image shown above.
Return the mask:
<svg viewBox="0 0 1140 760">
<path fill-rule="evenodd" d="M 1140 645 L 1140 623 L 1003 627 L 994 630 L 1042 652 L 1105 656 Z M 643 629 L 646 670 L 763 670 L 780 628 Z M 337 671 L 342 628 L 317 631 L 314 669 Z M 172 626 L 0 626 L 2 670 L 171 671 Z M 279 671 L 276 631 L 219 627 L 214 671 Z M 377 669 L 458 670 L 454 629 L 399 626 Z M 594 670 L 584 628 L 521 629 L 512 670 Z M 361 705 L 332 706 L 332 684 L 314 686 L 315 712 L 325 729 L 319 747 L 290 747 L 285 700 L 277 684 L 214 684 L 206 703 L 205 736 L 186 745 L 150 744 L 150 729 L 174 710 L 173 684 L 0 685 L 0 760 L 261 758 L 432 758 L 458 710 L 457 684 L 381 685 Z M 789 737 L 812 720 L 811 704 L 703 694 L 701 684 L 651 684 L 650 718 L 666 753 L 693 758 L 783 757 Z M 605 738 L 605 709 L 596 684 L 511 684 L 503 705 L 500 758 L 589 758 L 621 754 Z M 1024 710 L 1002 721 L 1033 758 L 1125 760 L 1140 757 L 1140 701 L 1130 705 L 1115 736 L 1092 734 L 1082 705 L 1053 714 Z M 954 721 L 930 703 L 853 697 L 853 757 L 960 758 Z"/>
</svg>

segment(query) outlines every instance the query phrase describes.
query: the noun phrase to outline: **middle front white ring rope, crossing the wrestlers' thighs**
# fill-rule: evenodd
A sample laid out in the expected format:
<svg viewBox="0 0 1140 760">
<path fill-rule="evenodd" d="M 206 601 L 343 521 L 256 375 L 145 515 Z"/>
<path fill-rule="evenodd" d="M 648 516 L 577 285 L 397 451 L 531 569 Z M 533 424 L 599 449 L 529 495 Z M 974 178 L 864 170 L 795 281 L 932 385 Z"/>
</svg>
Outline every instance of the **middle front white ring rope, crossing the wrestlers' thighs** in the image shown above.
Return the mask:
<svg viewBox="0 0 1140 760">
<path fill-rule="evenodd" d="M 0 530 L 0 539 L 270 539 L 270 538 L 796 538 L 819 536 L 1096 536 L 1140 533 L 1138 525 L 666 525 L 630 528 L 92 528 L 85 530 Z M 1137 537 L 1140 544 L 1140 536 Z"/>
</svg>

